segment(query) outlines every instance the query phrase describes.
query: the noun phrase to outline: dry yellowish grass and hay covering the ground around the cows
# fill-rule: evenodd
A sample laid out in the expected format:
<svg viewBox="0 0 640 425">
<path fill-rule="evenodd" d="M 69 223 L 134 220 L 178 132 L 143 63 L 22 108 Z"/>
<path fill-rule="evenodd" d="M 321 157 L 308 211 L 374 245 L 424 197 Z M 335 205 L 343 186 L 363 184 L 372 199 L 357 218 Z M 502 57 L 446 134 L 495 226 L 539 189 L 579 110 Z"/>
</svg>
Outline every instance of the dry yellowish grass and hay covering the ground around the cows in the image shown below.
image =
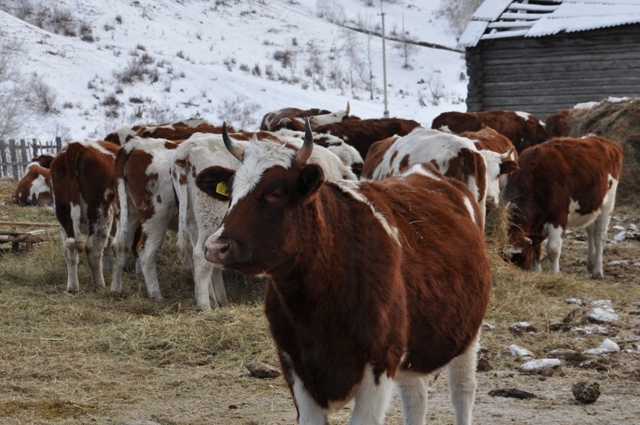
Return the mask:
<svg viewBox="0 0 640 425">
<path fill-rule="evenodd" d="M 625 211 L 629 217 L 638 215 L 631 208 Z M 0 217 L 55 222 L 46 208 L 0 206 Z M 626 277 L 617 277 L 605 270 L 603 281 L 588 280 L 580 264 L 586 252 L 578 244 L 567 243 L 559 275 L 526 273 L 505 263 L 499 255 L 506 241 L 505 217 L 505 211 L 492 213 L 487 223 L 494 285 L 487 321 L 496 329 L 485 332 L 482 343 L 498 370 L 515 366 L 505 355 L 511 343 L 538 355 L 568 343 L 564 333 L 544 332 L 548 321 L 574 309 L 565 298 L 610 298 L 617 305 L 640 300 L 640 272 L 630 268 Z M 144 281 L 133 272 L 132 260 L 122 296 L 89 287 L 85 258 L 79 267 L 81 293 L 69 295 L 59 234 L 54 231 L 51 237 L 32 251 L 14 253 L 0 246 L 0 423 L 295 420 L 282 379 L 256 380 L 242 366 L 252 361 L 277 365 L 262 311 L 263 281 L 227 274 L 232 305 L 197 313 L 190 271 L 178 263 L 175 241 L 167 237 L 158 262 L 166 301 L 145 298 Z M 608 247 L 606 257 L 640 258 L 640 250 L 637 244 Z M 516 338 L 508 326 L 521 320 L 543 331 Z M 586 337 L 581 344 L 593 346 L 601 339 Z M 437 382 L 434 388 L 430 423 L 448 423 L 446 383 Z M 394 406 L 387 423 L 399 424 Z M 348 411 L 342 412 L 332 423 L 347 423 L 347 416 Z"/>
</svg>

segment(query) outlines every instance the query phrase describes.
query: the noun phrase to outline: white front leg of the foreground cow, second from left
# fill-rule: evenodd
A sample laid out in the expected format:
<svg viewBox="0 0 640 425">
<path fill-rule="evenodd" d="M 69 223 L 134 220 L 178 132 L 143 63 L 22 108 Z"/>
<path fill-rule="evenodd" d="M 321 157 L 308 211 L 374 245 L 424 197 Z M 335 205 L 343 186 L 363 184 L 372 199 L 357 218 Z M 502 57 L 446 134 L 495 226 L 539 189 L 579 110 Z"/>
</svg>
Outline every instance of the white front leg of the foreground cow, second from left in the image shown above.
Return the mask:
<svg viewBox="0 0 640 425">
<path fill-rule="evenodd" d="M 356 392 L 356 404 L 349 425 L 383 425 L 393 395 L 393 387 L 393 379 L 384 373 L 376 384 L 373 370 L 368 366 Z"/>
</svg>

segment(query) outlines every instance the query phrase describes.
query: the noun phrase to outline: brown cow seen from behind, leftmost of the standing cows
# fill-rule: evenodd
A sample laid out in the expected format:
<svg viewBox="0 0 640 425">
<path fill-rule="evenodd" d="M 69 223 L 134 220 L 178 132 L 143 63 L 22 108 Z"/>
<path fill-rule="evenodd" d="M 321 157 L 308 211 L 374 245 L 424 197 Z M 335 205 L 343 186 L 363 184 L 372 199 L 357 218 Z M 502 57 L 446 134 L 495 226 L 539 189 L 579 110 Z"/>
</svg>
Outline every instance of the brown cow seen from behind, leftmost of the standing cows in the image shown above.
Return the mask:
<svg viewBox="0 0 640 425">
<path fill-rule="evenodd" d="M 117 145 L 104 141 L 71 142 L 51 162 L 54 209 L 67 261 L 67 292 L 77 293 L 80 289 L 78 253 L 83 249 L 83 233 L 87 235 L 84 249 L 93 286 L 105 286 L 103 250 L 114 217 L 115 159 L 119 150 Z"/>
</svg>

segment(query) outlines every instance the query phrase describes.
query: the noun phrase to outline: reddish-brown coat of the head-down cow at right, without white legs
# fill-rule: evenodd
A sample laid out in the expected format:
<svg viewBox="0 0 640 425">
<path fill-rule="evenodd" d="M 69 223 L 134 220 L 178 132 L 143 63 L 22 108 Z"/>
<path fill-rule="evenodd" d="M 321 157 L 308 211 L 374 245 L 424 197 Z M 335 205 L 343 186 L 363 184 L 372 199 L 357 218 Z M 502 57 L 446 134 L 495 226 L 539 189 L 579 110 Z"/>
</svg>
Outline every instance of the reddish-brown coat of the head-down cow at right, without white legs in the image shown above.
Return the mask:
<svg viewBox="0 0 640 425">
<path fill-rule="evenodd" d="M 608 175 L 620 179 L 622 149 L 597 136 L 555 138 L 526 150 L 518 164 L 503 197 L 512 205 L 510 243 L 523 250 L 512 261 L 529 270 L 534 255 L 540 260 L 544 224 L 566 229 L 570 199 L 580 204 L 581 214 L 602 207 Z"/>
</svg>

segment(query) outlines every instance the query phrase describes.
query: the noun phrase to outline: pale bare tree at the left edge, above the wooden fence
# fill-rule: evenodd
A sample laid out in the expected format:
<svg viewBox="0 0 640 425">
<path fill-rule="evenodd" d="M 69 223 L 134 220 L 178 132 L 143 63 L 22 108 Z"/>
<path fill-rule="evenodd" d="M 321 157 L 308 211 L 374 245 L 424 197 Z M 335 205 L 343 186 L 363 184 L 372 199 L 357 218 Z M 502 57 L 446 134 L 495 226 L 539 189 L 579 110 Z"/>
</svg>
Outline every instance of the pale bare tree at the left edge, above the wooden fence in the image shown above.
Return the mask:
<svg viewBox="0 0 640 425">
<path fill-rule="evenodd" d="M 18 67 L 23 53 L 17 39 L 0 39 L 0 139 L 15 135 L 33 116 L 31 81 Z"/>
</svg>

